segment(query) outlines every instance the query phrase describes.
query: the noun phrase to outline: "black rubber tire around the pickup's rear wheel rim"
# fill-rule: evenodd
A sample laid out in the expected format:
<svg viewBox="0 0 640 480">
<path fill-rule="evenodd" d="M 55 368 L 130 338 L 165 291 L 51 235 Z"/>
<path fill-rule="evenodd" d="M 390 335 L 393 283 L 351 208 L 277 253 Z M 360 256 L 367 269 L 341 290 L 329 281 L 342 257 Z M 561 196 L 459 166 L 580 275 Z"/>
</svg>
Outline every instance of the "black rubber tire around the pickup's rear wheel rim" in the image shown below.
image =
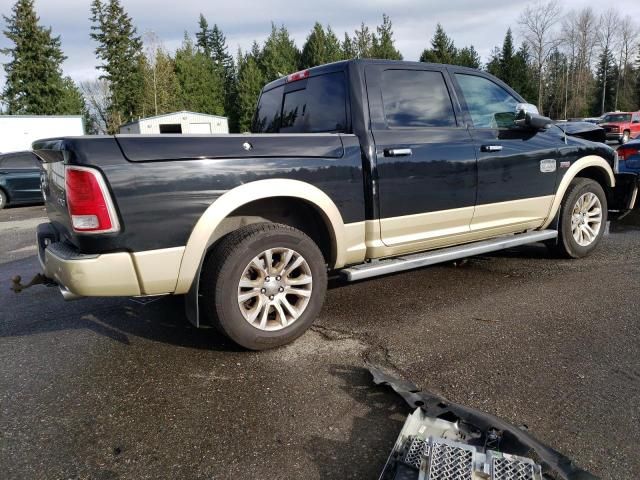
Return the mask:
<svg viewBox="0 0 640 480">
<path fill-rule="evenodd" d="M 241 312 L 239 282 L 252 259 L 278 248 L 298 253 L 310 268 L 313 283 L 300 316 L 280 330 L 267 331 Z M 227 337 L 250 350 L 279 347 L 302 335 L 320 313 L 326 290 L 327 267 L 318 246 L 300 230 L 277 223 L 247 225 L 225 236 L 207 256 L 200 280 L 203 314 Z"/>
</svg>

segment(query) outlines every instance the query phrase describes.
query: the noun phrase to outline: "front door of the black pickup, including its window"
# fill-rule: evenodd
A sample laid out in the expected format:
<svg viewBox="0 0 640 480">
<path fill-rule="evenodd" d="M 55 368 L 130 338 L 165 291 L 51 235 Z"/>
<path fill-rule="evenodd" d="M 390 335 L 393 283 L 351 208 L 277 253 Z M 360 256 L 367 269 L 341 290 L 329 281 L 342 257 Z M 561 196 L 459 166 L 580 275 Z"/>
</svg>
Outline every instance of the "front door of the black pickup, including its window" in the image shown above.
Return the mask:
<svg viewBox="0 0 640 480">
<path fill-rule="evenodd" d="M 472 231 L 536 228 L 553 203 L 559 148 L 558 128 L 544 131 L 515 126 L 521 100 L 492 78 L 452 70 L 458 98 L 469 113 L 478 155 L 478 199 Z"/>
</svg>

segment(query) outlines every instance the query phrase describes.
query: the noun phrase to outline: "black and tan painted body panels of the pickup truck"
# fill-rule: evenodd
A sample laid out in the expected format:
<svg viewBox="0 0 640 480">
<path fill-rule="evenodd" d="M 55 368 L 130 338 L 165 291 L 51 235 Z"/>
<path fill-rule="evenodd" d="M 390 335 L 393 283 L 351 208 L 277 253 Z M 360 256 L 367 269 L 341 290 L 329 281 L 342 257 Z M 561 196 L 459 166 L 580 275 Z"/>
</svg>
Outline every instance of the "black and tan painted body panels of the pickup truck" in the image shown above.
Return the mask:
<svg viewBox="0 0 640 480">
<path fill-rule="evenodd" d="M 441 72 L 455 106 L 456 125 L 390 129 L 379 86 L 379 75 L 388 68 Z M 557 127 L 474 128 L 456 72 L 488 78 L 524 102 L 487 74 L 423 63 L 349 61 L 311 69 L 309 77 L 337 70 L 345 72 L 348 82 L 344 133 L 36 142 L 45 165 L 43 190 L 53 240 L 90 255 L 74 261 L 91 262 L 96 276 L 101 262 L 119 255 L 126 263 L 123 275 L 136 287 L 130 292 L 117 285 L 101 290 L 100 279 L 81 269 L 68 275 L 63 272 L 64 252 L 55 248 L 45 249 L 46 270 L 74 283 L 81 290 L 75 293 L 82 295 L 184 294 L 197 279 L 208 249 L 230 228 L 228 220 L 237 219 L 237 226 L 255 221 L 243 209 L 273 199 L 284 200 L 279 204 L 283 210 L 304 204 L 317 214 L 313 221 L 328 232 L 328 266 L 341 268 L 546 227 L 576 175 L 599 181 L 613 207 L 618 197 L 628 197 L 613 194 L 615 154 L 607 146 L 568 137 Z M 265 90 L 283 82 L 272 82 Z M 396 149 L 411 153 L 386 153 Z M 104 175 L 118 212 L 119 232 L 72 231 L 65 165 L 93 167 Z"/>
</svg>

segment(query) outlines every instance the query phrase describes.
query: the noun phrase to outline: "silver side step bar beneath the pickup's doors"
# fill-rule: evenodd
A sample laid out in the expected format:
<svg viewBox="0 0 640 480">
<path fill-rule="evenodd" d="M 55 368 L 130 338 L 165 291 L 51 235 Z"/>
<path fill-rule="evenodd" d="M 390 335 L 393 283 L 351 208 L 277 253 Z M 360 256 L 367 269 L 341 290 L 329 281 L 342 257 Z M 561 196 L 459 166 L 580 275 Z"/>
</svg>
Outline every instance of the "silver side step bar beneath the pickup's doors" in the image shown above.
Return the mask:
<svg viewBox="0 0 640 480">
<path fill-rule="evenodd" d="M 442 248 L 440 250 L 432 250 L 430 252 L 415 253 L 387 260 L 363 263 L 354 267 L 345 268 L 341 270 L 340 273 L 347 281 L 353 282 L 365 278 L 377 277 L 379 275 L 402 272 L 403 270 L 435 265 L 436 263 L 451 262 L 460 258 L 482 255 L 483 253 L 495 252 L 506 248 L 517 247 L 519 245 L 551 240 L 557 236 L 558 232 L 556 230 L 539 230 L 519 233 L 516 235 L 493 238 L 491 240 L 483 240 L 482 242 L 467 243 L 466 245 L 460 245 L 457 247 Z"/>
</svg>

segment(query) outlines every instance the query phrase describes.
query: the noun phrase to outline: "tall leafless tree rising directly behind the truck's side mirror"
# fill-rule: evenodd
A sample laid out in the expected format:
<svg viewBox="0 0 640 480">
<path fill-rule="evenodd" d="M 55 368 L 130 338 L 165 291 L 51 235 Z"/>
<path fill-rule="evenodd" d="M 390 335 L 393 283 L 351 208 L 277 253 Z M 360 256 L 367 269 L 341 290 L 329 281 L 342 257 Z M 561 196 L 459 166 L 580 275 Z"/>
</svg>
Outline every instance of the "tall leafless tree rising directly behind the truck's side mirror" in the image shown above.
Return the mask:
<svg viewBox="0 0 640 480">
<path fill-rule="evenodd" d="M 538 73 L 538 108 L 542 105 L 542 73 L 549 55 L 561 43 L 561 38 L 555 32 L 555 26 L 560 21 L 561 8 L 558 0 L 537 0 L 527 5 L 520 15 L 518 23 L 522 36 L 529 45 Z"/>
</svg>

